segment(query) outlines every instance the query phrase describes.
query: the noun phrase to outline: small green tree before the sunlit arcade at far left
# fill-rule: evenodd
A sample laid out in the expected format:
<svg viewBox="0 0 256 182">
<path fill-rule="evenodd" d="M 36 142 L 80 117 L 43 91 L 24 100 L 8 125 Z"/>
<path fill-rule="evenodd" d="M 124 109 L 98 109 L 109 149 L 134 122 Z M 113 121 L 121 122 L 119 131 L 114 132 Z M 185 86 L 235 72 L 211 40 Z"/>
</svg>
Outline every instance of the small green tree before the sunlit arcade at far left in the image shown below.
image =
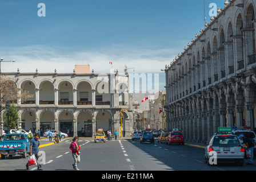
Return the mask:
<svg viewBox="0 0 256 182">
<path fill-rule="evenodd" d="M 4 116 L 4 122 L 5 122 L 4 125 L 6 127 L 8 126 L 7 119 L 8 119 L 8 115 L 6 112 Z M 10 129 L 15 129 L 16 127 L 18 127 L 18 119 L 19 119 L 19 109 L 14 104 L 11 104 L 10 111 L 9 111 L 9 128 Z"/>
</svg>

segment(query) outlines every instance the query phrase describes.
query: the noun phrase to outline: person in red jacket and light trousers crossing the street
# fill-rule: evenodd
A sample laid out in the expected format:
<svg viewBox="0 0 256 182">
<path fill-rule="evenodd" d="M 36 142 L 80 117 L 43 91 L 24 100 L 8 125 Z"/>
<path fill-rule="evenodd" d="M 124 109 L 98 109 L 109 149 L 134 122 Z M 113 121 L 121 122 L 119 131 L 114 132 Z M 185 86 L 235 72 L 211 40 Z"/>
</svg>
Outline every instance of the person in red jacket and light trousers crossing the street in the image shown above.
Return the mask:
<svg viewBox="0 0 256 182">
<path fill-rule="evenodd" d="M 77 164 L 80 162 L 80 146 L 78 144 L 78 140 L 79 138 L 76 136 L 72 139 L 72 142 L 69 146 L 70 150 L 72 151 L 72 156 L 73 156 L 73 159 L 74 159 L 74 164 L 73 165 L 73 168 L 75 171 L 79 171 L 79 169 L 77 168 Z"/>
</svg>

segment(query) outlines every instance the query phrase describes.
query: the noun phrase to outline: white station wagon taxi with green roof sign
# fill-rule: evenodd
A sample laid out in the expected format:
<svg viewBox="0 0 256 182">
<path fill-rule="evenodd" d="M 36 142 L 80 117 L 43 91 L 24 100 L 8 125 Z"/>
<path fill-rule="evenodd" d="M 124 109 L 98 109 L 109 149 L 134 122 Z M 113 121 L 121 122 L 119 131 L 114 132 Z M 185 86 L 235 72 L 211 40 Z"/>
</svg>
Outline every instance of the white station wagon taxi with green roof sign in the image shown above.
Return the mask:
<svg viewBox="0 0 256 182">
<path fill-rule="evenodd" d="M 245 149 L 237 135 L 231 133 L 231 127 L 219 127 L 209 143 L 205 143 L 205 161 L 207 164 L 219 162 L 235 162 L 243 166 Z"/>
</svg>

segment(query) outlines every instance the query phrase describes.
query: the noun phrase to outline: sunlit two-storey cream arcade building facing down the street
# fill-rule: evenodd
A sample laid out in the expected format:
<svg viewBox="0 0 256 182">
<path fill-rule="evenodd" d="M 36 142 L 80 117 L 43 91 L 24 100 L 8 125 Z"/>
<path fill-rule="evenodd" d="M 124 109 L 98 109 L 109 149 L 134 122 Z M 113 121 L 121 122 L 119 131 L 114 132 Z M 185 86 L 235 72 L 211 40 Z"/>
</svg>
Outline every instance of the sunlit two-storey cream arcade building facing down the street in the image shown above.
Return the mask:
<svg viewBox="0 0 256 182">
<path fill-rule="evenodd" d="M 19 108 L 20 128 L 37 132 L 39 129 L 61 130 L 70 135 L 92 137 L 95 131 L 121 130 L 124 137 L 133 131 L 130 108 L 129 77 L 118 74 L 93 73 L 6 73 L 17 88 L 28 90 L 34 97 L 22 102 Z M 121 127 L 122 105 L 122 127 Z M 2 115 L 5 114 L 5 110 Z M 3 125 L 2 125 L 3 126 Z"/>
</svg>

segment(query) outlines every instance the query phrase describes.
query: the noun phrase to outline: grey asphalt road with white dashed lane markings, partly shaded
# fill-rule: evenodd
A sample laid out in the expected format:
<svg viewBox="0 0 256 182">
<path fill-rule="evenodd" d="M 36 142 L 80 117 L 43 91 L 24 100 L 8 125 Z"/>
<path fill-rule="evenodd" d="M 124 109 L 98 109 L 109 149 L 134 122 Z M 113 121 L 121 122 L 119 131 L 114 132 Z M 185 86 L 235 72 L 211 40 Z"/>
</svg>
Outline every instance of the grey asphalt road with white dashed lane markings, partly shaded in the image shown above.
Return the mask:
<svg viewBox="0 0 256 182">
<path fill-rule="evenodd" d="M 52 144 L 47 139 L 41 139 L 42 144 L 50 144 L 39 150 L 46 154 L 46 164 L 42 168 L 46 171 L 73 171 L 73 158 L 69 149 L 71 138 L 61 143 Z M 155 140 L 156 141 L 156 140 Z M 78 168 L 82 171 L 255 171 L 253 166 L 244 164 L 242 167 L 234 164 L 218 164 L 207 166 L 204 149 L 189 146 L 171 146 L 165 143 L 139 143 L 139 140 L 118 139 L 106 143 L 94 143 L 93 139 L 80 139 L 81 163 Z M 255 159 L 254 159 L 255 160 Z M 4 162 L 3 162 L 4 161 Z M 23 171 L 27 159 L 19 156 L 0 159 L 0 170 Z M 35 166 L 31 170 L 37 169 Z"/>
</svg>

